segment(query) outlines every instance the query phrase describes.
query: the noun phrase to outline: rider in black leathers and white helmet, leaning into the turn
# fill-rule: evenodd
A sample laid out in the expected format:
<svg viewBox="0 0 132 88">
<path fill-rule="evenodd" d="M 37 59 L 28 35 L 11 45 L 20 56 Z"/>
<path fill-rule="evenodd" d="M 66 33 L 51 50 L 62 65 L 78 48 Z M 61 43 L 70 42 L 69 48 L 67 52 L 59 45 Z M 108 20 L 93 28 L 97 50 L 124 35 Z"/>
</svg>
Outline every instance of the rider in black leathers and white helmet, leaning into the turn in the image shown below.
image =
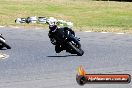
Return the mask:
<svg viewBox="0 0 132 88">
<path fill-rule="evenodd" d="M 51 43 L 53 44 L 53 45 L 55 45 L 55 51 L 56 51 L 56 53 L 60 53 L 62 50 L 63 50 L 63 48 L 61 47 L 61 45 L 59 44 L 59 43 L 57 43 L 57 41 L 54 39 L 54 37 L 53 37 L 53 34 L 54 34 L 54 32 L 56 31 L 56 30 L 58 30 L 58 29 L 61 29 L 61 30 L 64 30 L 65 32 L 66 31 L 70 31 L 71 32 L 71 34 L 73 35 L 73 36 L 75 36 L 75 32 L 71 29 L 71 28 L 69 28 L 69 27 L 62 27 L 62 28 L 58 28 L 57 27 L 57 23 L 63 23 L 62 21 L 57 21 L 55 18 L 53 18 L 53 17 L 50 17 L 48 20 L 47 20 L 47 23 L 49 24 L 49 34 L 48 34 L 48 36 L 49 36 L 49 38 L 50 38 L 50 41 L 51 41 Z"/>
</svg>

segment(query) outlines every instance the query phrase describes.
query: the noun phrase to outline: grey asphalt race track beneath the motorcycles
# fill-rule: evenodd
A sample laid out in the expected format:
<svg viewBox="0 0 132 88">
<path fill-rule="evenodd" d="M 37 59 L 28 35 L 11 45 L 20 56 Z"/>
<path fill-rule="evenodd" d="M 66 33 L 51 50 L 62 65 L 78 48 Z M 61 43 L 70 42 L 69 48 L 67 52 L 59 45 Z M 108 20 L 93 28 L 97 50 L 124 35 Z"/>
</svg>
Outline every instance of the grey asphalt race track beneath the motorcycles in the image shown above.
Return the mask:
<svg viewBox="0 0 132 88">
<path fill-rule="evenodd" d="M 76 83 L 76 69 L 87 73 L 127 73 L 132 75 L 132 35 L 76 32 L 83 56 L 56 54 L 48 30 L 0 28 L 11 50 L 0 59 L 0 88 L 132 88 L 130 84 Z"/>
</svg>

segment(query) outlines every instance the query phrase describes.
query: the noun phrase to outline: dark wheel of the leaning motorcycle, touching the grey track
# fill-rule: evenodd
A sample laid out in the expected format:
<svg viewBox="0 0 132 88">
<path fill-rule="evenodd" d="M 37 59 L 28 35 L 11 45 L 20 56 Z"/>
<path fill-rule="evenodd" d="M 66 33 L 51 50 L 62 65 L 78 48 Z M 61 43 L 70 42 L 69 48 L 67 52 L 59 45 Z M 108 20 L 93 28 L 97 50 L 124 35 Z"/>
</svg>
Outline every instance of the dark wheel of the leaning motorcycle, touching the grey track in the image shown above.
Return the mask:
<svg viewBox="0 0 132 88">
<path fill-rule="evenodd" d="M 81 44 L 75 39 L 72 38 L 70 42 L 68 42 L 70 46 L 70 50 L 74 51 L 78 56 L 82 56 L 84 51 L 81 49 Z"/>
</svg>

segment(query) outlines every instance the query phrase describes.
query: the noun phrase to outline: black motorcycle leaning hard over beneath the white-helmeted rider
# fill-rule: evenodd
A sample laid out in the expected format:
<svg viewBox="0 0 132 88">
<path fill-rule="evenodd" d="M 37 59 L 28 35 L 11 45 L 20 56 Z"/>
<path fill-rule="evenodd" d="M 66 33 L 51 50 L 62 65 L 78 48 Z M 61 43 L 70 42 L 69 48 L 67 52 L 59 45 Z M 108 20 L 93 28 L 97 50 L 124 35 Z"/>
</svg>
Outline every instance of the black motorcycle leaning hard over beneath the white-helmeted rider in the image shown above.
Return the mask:
<svg viewBox="0 0 132 88">
<path fill-rule="evenodd" d="M 56 43 L 61 47 L 61 49 L 66 50 L 66 52 L 71 54 L 82 56 L 84 51 L 81 49 L 81 44 L 79 42 L 80 39 L 75 37 L 70 30 L 54 26 L 49 27 L 50 32 L 52 32 L 52 37 L 56 40 Z"/>
</svg>

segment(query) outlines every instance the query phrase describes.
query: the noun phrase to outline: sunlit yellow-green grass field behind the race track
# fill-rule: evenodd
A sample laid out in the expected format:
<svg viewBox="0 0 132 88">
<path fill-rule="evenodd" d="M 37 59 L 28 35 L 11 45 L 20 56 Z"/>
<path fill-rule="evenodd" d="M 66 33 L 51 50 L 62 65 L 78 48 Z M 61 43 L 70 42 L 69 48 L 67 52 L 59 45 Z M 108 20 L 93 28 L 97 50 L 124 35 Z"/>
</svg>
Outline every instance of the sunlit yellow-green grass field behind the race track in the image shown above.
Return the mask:
<svg viewBox="0 0 132 88">
<path fill-rule="evenodd" d="M 17 24 L 14 23 L 16 18 L 28 16 L 53 16 L 58 19 L 72 21 L 74 28 L 82 31 L 132 31 L 132 3 L 129 2 L 0 0 L 0 25 L 16 26 Z M 40 24 L 34 25 L 43 26 Z M 33 25 L 29 24 L 29 26 Z"/>
</svg>

